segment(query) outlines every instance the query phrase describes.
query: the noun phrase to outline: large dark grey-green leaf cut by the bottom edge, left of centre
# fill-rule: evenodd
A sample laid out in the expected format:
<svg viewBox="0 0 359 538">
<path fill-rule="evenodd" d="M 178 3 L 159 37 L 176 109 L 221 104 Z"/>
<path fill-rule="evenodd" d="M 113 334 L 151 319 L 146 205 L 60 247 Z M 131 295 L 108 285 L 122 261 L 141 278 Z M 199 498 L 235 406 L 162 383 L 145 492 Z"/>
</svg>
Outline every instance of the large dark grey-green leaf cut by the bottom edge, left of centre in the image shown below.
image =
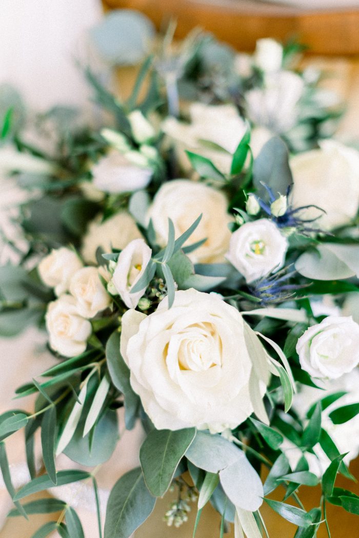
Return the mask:
<svg viewBox="0 0 359 538">
<path fill-rule="evenodd" d="M 155 503 L 139 467 L 123 475 L 110 493 L 104 538 L 129 538 L 151 514 Z"/>
</svg>

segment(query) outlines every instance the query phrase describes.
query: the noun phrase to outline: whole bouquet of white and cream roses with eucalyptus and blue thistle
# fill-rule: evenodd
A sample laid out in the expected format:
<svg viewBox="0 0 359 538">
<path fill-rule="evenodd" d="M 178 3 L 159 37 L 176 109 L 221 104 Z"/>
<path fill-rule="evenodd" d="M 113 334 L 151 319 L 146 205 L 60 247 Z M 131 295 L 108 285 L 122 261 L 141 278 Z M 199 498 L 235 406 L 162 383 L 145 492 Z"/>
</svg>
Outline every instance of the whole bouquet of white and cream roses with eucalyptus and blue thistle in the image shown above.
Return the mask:
<svg viewBox="0 0 359 538">
<path fill-rule="evenodd" d="M 330 536 L 328 503 L 359 513 L 359 497 L 335 484 L 337 473 L 354 479 L 359 451 L 359 153 L 320 139 L 328 115 L 311 116 L 315 84 L 283 70 L 279 44 L 262 41 L 245 75 L 237 58 L 213 84 L 218 70 L 194 61 L 208 64 L 205 42 L 146 60 L 125 102 L 87 70 L 110 117 L 69 129 L 53 110 L 41 124 L 52 153 L 26 143 L 16 107 L 5 115 L 0 165 L 29 195 L 22 243 L 11 242 L 18 263 L 0 268 L 0 334 L 45 325 L 53 355 L 14 387 L 36 395 L 33 413 L 0 416 L 9 515 L 60 512 L 34 536 L 84 536 L 61 496 L 26 501 L 79 481 L 93 484 L 104 538 L 129 538 L 173 488 L 164 520 L 182 525 L 192 505 L 193 536 L 208 502 L 219 536 L 231 523 L 237 537 L 268 536 L 263 502 L 297 538 L 320 525 Z M 189 121 L 176 95 L 186 81 L 202 97 Z M 140 422 L 145 439 L 140 466 L 114 477 L 103 530 L 96 471 L 123 407 L 125 428 Z M 6 439 L 21 428 L 30 480 L 15 491 Z M 57 471 L 61 453 L 79 469 Z M 318 484 L 307 511 L 301 486 Z M 283 501 L 270 497 L 277 488 Z"/>
</svg>

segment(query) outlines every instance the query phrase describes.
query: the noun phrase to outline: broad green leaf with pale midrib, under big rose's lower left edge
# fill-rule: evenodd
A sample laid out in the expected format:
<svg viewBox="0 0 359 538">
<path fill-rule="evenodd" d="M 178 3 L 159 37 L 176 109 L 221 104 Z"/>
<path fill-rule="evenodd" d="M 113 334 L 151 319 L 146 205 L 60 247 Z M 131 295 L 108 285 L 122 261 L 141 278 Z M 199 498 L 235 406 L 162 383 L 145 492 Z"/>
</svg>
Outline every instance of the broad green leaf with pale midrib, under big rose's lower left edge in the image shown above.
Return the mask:
<svg viewBox="0 0 359 538">
<path fill-rule="evenodd" d="M 145 483 L 155 497 L 162 497 L 177 465 L 196 435 L 195 428 L 152 430 L 139 451 Z"/>
</svg>

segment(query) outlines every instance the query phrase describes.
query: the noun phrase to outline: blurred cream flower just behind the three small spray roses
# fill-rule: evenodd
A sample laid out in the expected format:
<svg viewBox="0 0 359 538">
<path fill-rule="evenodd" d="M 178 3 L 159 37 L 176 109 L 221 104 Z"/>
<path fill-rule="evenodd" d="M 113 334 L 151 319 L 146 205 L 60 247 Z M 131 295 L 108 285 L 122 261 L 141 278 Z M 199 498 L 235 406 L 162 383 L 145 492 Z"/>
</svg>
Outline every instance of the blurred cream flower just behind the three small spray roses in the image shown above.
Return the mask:
<svg viewBox="0 0 359 538">
<path fill-rule="evenodd" d="M 133 239 L 142 237 L 129 213 L 121 211 L 101 222 L 101 216 L 92 221 L 83 238 L 81 254 L 89 263 L 96 263 L 96 250 L 124 249 Z"/>
</svg>

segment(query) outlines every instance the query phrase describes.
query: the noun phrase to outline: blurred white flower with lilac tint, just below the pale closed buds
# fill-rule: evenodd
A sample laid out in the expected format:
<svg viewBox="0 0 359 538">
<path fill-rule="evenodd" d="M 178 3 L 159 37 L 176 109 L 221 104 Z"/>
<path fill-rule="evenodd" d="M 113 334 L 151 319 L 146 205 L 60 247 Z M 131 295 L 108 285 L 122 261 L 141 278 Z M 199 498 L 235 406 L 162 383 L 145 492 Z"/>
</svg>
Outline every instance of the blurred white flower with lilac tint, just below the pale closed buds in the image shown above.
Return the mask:
<svg viewBox="0 0 359 538">
<path fill-rule="evenodd" d="M 114 194 L 146 187 L 151 181 L 153 171 L 148 167 L 148 161 L 139 153 L 138 162 L 133 164 L 137 153 L 132 151 L 122 154 L 117 150 L 110 150 L 91 168 L 94 186 Z"/>
</svg>

